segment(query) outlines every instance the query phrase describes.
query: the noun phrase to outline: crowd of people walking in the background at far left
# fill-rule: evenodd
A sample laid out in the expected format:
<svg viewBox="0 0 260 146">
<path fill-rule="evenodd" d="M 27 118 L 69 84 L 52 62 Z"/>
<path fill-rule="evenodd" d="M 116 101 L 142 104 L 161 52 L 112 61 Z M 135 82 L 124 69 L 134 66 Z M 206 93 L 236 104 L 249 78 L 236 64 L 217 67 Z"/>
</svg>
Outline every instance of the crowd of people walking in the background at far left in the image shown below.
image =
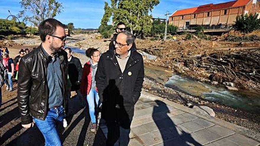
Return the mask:
<svg viewBox="0 0 260 146">
<path fill-rule="evenodd" d="M 12 59 L 7 47 L 0 46 L 0 87 L 5 85 L 7 91 L 13 91 L 13 81 L 18 81 L 18 65 L 20 59 L 29 53 L 28 48 L 19 50 L 18 54 Z M 2 103 L 2 90 L 0 88 L 0 107 Z"/>
</svg>

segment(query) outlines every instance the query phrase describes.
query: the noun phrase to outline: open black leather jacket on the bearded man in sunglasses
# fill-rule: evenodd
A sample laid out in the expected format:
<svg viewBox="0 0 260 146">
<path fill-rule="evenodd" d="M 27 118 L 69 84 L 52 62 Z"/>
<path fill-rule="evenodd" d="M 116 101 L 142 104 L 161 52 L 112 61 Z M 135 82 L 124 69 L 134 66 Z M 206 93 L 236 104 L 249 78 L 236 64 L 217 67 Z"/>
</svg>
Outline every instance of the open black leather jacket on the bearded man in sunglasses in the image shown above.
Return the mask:
<svg viewBox="0 0 260 146">
<path fill-rule="evenodd" d="M 17 101 L 22 124 L 31 123 L 31 116 L 44 120 L 48 112 L 48 56 L 43 51 L 43 47 L 40 45 L 25 55 L 19 63 Z M 63 106 L 66 109 L 68 58 L 64 50 L 61 50 L 58 55 L 63 79 Z"/>
</svg>

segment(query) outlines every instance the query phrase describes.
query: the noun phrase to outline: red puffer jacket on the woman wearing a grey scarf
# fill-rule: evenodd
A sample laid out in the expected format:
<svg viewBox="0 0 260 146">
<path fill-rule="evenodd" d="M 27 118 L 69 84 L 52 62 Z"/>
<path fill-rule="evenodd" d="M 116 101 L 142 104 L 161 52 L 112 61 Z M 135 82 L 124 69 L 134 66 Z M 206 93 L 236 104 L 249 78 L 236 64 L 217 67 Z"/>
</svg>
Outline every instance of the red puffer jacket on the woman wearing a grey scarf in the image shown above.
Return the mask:
<svg viewBox="0 0 260 146">
<path fill-rule="evenodd" d="M 91 89 L 91 83 L 92 83 L 92 68 L 90 65 L 90 61 L 86 62 L 83 71 L 82 71 L 82 78 L 81 78 L 81 85 L 80 85 L 80 92 L 83 96 L 86 96 L 89 94 Z M 97 88 L 96 88 L 97 90 Z"/>
</svg>

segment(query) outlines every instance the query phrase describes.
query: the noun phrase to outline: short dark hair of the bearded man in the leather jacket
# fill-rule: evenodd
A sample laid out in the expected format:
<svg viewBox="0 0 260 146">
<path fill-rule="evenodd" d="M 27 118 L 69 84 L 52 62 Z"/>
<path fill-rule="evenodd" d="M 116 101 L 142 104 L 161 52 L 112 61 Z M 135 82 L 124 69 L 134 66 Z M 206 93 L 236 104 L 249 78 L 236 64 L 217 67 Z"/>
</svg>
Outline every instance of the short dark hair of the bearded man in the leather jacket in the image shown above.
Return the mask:
<svg viewBox="0 0 260 146">
<path fill-rule="evenodd" d="M 64 24 L 53 18 L 49 18 L 41 22 L 39 25 L 39 34 L 41 41 L 45 42 L 45 37 L 47 35 L 53 35 L 56 31 L 57 26 L 65 28 Z"/>
</svg>

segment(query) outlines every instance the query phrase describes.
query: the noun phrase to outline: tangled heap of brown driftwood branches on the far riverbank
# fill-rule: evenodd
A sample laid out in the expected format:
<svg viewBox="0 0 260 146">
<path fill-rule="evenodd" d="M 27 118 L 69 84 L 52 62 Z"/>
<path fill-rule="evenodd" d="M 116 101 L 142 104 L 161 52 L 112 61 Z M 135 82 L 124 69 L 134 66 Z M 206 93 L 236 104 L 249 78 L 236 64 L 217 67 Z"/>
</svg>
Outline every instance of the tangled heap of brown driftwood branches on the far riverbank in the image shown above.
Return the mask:
<svg viewBox="0 0 260 146">
<path fill-rule="evenodd" d="M 260 48 L 197 55 L 186 59 L 184 65 L 193 71 L 207 70 L 212 81 L 233 82 L 238 88 L 260 89 Z"/>
</svg>

